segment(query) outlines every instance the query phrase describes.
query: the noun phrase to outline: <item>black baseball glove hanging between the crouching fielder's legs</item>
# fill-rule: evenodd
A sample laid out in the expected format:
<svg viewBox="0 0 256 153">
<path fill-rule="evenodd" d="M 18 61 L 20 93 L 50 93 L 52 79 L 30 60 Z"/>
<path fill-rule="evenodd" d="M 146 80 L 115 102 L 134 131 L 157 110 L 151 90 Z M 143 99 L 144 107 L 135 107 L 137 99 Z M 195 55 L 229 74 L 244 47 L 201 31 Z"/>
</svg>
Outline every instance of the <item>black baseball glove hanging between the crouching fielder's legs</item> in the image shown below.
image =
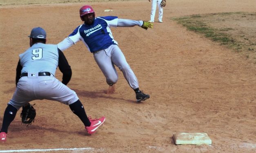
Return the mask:
<svg viewBox="0 0 256 153">
<path fill-rule="evenodd" d="M 34 104 L 35 105 L 35 104 Z M 27 124 L 27 126 L 31 125 L 32 122 L 34 122 L 36 117 L 36 109 L 30 103 L 28 103 L 27 106 L 22 107 L 22 111 L 20 114 L 21 121 L 24 124 Z"/>
</svg>

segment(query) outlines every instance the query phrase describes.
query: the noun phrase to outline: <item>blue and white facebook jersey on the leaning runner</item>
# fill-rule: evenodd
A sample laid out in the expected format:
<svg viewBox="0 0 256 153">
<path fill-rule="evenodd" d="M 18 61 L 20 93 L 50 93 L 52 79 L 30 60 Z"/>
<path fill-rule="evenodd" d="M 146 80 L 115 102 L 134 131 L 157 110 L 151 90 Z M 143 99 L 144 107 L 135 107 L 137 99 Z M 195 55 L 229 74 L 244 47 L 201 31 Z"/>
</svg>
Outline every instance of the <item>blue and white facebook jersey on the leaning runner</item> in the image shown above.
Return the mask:
<svg viewBox="0 0 256 153">
<path fill-rule="evenodd" d="M 92 25 L 81 24 L 69 35 L 74 43 L 82 40 L 90 52 L 106 49 L 118 44 L 111 33 L 110 27 L 116 27 L 118 17 L 96 17 Z"/>
</svg>

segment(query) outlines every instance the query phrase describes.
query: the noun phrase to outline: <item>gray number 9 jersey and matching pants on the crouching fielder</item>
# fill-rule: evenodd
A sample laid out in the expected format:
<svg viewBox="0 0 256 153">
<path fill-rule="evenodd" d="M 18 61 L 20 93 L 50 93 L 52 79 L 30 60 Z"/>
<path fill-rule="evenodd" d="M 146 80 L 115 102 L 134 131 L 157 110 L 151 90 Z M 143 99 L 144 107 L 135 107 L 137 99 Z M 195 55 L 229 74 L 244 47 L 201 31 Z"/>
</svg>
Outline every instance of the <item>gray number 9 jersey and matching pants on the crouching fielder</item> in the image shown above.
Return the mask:
<svg viewBox="0 0 256 153">
<path fill-rule="evenodd" d="M 38 99 L 59 101 L 66 105 L 78 101 L 76 92 L 54 77 L 58 59 L 57 45 L 51 44 L 37 43 L 20 54 L 21 73 L 26 75 L 18 80 L 9 104 L 20 109 L 25 103 Z M 50 72 L 50 75 L 41 76 L 39 72 Z"/>
</svg>

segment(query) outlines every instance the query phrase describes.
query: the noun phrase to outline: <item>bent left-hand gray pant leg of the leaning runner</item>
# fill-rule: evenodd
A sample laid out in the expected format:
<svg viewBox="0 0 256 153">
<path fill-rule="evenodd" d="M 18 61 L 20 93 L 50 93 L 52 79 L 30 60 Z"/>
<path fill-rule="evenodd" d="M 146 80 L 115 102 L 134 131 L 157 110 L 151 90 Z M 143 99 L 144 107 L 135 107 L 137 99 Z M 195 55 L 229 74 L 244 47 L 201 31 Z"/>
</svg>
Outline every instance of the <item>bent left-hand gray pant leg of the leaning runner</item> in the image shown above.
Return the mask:
<svg viewBox="0 0 256 153">
<path fill-rule="evenodd" d="M 106 77 L 107 84 L 113 85 L 118 81 L 118 74 L 114 64 L 111 61 L 111 55 L 108 55 L 105 50 L 100 50 L 94 53 L 93 57 L 100 70 Z"/>
</svg>

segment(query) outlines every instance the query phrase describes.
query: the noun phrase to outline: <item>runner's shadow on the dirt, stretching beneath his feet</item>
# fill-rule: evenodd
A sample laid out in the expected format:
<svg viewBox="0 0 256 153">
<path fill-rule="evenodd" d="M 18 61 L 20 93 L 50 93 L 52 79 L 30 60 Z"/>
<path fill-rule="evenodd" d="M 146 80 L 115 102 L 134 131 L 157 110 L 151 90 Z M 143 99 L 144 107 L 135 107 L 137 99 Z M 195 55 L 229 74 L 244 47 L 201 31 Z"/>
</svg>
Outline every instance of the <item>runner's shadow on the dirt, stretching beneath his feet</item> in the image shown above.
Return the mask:
<svg viewBox="0 0 256 153">
<path fill-rule="evenodd" d="M 76 94 L 78 95 L 78 97 L 87 97 L 87 98 L 108 98 L 108 99 L 114 99 L 114 100 L 118 100 L 118 101 L 126 101 L 129 103 L 137 103 L 136 101 L 132 101 L 132 100 L 127 100 L 124 98 L 117 98 L 117 97 L 113 97 L 109 94 L 106 94 L 105 90 L 101 90 L 101 91 L 97 91 L 97 92 L 92 92 L 92 91 L 85 91 L 85 90 L 77 90 L 77 89 L 72 89 L 76 92 Z"/>
</svg>

